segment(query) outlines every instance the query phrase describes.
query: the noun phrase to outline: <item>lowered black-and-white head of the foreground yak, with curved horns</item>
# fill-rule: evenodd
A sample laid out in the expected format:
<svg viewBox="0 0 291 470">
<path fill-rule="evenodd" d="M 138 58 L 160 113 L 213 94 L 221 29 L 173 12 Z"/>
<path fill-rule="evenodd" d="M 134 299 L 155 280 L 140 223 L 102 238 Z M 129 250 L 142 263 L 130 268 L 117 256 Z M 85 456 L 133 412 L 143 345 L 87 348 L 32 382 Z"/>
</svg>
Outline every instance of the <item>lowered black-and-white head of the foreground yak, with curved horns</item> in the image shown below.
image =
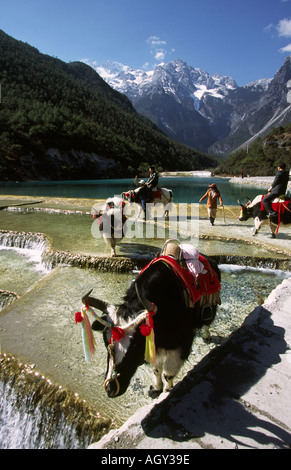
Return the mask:
<svg viewBox="0 0 291 470">
<path fill-rule="evenodd" d="M 91 297 L 88 292 L 82 301 L 102 312 L 92 323 L 92 329 L 103 331 L 104 345 L 108 351 L 104 389 L 109 398 L 122 395 L 128 388 L 137 368 L 144 363 L 145 336 L 140 331 L 153 304 L 136 295 L 119 307 Z"/>
</svg>

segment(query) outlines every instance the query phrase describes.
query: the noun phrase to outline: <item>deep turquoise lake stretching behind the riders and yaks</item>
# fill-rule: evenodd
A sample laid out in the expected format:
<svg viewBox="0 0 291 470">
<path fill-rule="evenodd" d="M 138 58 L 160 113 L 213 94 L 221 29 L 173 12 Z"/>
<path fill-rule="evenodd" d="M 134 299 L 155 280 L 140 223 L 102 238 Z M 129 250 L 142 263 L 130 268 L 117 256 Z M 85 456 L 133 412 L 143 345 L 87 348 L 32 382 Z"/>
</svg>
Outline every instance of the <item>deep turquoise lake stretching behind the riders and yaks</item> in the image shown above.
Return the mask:
<svg viewBox="0 0 291 470">
<path fill-rule="evenodd" d="M 229 183 L 227 178 L 211 177 L 162 177 L 160 187 L 171 189 L 174 202 L 198 202 L 211 183 L 216 183 L 226 205 L 236 205 L 238 198 L 253 199 L 264 189 L 256 186 Z M 51 196 L 65 198 L 106 199 L 135 189 L 133 179 L 88 180 L 88 181 L 34 181 L 25 183 L 0 183 L 0 194 L 21 196 Z M 266 190 L 265 190 L 266 192 Z"/>
</svg>

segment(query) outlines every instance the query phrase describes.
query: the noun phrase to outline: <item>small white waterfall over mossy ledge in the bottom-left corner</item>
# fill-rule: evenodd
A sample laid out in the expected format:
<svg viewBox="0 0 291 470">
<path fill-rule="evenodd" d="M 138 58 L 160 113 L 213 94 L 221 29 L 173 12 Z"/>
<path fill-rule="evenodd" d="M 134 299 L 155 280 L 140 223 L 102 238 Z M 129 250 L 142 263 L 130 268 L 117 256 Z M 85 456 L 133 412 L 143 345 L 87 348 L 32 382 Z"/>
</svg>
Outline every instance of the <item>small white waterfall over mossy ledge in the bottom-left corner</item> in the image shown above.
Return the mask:
<svg viewBox="0 0 291 470">
<path fill-rule="evenodd" d="M 90 404 L 1 354 L 1 449 L 85 449 L 111 427 Z"/>
</svg>

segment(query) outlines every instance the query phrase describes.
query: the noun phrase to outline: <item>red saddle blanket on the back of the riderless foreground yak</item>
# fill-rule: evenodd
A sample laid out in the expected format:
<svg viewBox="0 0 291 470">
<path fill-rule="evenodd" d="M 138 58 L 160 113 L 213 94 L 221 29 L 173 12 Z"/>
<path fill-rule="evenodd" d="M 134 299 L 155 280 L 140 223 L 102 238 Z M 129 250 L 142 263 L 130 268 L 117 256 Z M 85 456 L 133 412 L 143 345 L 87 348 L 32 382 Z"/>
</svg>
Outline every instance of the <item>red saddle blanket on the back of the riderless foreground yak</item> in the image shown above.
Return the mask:
<svg viewBox="0 0 291 470">
<path fill-rule="evenodd" d="M 188 292 L 189 301 L 196 303 L 202 297 L 203 301 L 212 303 L 220 303 L 219 297 L 214 295 L 221 290 L 221 285 L 217 273 L 211 268 L 209 262 L 204 256 L 199 255 L 199 261 L 204 265 L 204 270 L 195 278 L 188 269 L 180 266 L 171 256 L 159 256 L 154 258 L 141 272 L 145 271 L 151 264 L 156 262 L 164 262 L 170 266 L 177 277 L 182 281 L 184 290 Z"/>
</svg>

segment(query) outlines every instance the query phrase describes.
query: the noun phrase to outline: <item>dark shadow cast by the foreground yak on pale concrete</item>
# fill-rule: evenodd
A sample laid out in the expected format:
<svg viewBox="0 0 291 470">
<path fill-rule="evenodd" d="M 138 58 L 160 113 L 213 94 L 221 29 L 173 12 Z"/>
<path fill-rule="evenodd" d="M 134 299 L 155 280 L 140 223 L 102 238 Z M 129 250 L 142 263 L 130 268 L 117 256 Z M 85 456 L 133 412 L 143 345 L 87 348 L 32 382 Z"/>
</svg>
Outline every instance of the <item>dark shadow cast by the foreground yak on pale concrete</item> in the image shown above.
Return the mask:
<svg viewBox="0 0 291 470">
<path fill-rule="evenodd" d="M 252 387 L 288 350 L 284 333 L 268 310 L 255 309 L 223 347 L 210 352 L 151 410 L 141 423 L 145 434 L 157 439 L 157 447 L 158 439 L 167 438 L 189 441 L 189 448 L 193 439 L 206 448 L 257 448 L 257 443 L 290 448 L 287 426 L 246 401 L 246 395 L 253 401 Z M 279 398 L 274 394 L 273 400 Z"/>
</svg>

